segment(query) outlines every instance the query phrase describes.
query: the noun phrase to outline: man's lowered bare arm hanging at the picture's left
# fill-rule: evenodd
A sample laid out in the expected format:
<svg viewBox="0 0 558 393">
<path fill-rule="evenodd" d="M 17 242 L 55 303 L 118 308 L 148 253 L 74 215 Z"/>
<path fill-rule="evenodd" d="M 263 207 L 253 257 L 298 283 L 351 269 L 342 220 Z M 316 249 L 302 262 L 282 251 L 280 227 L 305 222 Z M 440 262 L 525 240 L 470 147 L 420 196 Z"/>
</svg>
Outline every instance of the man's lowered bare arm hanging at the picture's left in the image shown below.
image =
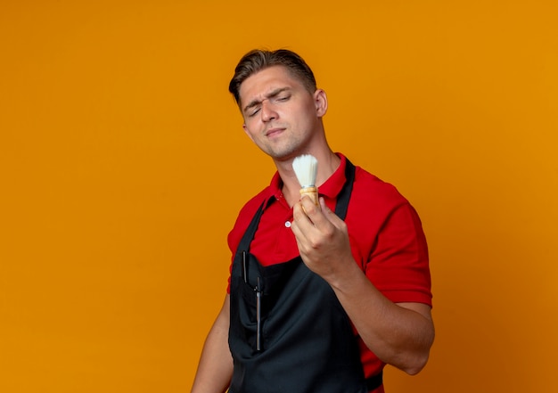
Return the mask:
<svg viewBox="0 0 558 393">
<path fill-rule="evenodd" d="M 192 393 L 222 393 L 228 389 L 233 375 L 233 357 L 228 347 L 229 308 L 227 294 L 203 345 Z"/>
</svg>

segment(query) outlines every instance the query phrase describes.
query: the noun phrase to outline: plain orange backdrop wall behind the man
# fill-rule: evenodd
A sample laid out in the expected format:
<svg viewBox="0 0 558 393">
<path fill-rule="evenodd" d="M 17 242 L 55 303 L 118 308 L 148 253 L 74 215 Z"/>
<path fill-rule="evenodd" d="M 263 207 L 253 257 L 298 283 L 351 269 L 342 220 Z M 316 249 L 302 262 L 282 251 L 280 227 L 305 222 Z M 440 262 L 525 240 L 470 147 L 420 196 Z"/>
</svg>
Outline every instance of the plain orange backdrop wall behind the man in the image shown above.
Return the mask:
<svg viewBox="0 0 558 393">
<path fill-rule="evenodd" d="M 0 3 L 0 391 L 189 391 L 274 172 L 226 87 L 291 48 L 333 150 L 418 209 L 437 339 L 398 392 L 555 392 L 554 1 Z"/>
</svg>

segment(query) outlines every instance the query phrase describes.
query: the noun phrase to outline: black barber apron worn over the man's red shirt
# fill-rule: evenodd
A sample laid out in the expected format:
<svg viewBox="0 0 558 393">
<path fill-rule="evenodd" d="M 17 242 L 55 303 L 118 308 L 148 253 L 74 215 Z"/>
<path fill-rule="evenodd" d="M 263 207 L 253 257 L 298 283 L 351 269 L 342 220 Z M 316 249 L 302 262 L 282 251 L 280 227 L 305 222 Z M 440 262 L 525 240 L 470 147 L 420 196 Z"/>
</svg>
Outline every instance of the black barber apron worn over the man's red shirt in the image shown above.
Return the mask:
<svg viewBox="0 0 558 393">
<path fill-rule="evenodd" d="M 347 160 L 335 207 L 347 214 L 355 167 Z M 242 237 L 231 274 L 230 393 L 367 393 L 382 373 L 365 380 L 349 316 L 331 286 L 299 257 L 261 266 L 249 252 L 264 206 Z"/>
</svg>

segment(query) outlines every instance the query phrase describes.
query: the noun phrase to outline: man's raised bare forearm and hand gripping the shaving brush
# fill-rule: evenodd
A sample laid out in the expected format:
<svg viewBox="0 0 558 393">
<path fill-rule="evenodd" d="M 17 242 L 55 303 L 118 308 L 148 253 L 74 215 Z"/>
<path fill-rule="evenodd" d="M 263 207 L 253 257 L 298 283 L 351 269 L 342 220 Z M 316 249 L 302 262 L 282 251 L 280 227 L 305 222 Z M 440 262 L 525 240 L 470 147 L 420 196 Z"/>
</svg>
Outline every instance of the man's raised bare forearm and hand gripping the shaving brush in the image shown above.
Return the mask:
<svg viewBox="0 0 558 393">
<path fill-rule="evenodd" d="M 347 225 L 324 201 L 320 204 L 318 209 L 302 198 L 294 206 L 291 229 L 300 256 L 332 286 L 360 337 L 376 356 L 406 373 L 418 373 L 434 340 L 430 306 L 395 304 L 384 297 L 355 262 Z"/>
</svg>

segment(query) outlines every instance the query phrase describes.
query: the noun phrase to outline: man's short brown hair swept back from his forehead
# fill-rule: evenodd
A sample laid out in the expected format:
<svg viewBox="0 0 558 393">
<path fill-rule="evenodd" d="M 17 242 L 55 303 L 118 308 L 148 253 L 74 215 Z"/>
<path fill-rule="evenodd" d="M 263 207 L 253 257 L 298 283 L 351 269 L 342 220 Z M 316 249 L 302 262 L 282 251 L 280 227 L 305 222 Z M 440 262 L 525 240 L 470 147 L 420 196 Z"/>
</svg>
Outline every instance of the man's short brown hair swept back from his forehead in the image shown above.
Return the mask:
<svg viewBox="0 0 558 393">
<path fill-rule="evenodd" d="M 239 91 L 244 80 L 258 71 L 273 66 L 285 67 L 293 77 L 298 78 L 302 82 L 308 89 L 308 92 L 313 94 L 316 91 L 314 73 L 299 54 L 288 49 L 278 49 L 276 51 L 254 49 L 244 54 L 234 69 L 234 77 L 228 86 L 229 92 L 234 95 L 234 101 L 240 105 Z"/>
</svg>

